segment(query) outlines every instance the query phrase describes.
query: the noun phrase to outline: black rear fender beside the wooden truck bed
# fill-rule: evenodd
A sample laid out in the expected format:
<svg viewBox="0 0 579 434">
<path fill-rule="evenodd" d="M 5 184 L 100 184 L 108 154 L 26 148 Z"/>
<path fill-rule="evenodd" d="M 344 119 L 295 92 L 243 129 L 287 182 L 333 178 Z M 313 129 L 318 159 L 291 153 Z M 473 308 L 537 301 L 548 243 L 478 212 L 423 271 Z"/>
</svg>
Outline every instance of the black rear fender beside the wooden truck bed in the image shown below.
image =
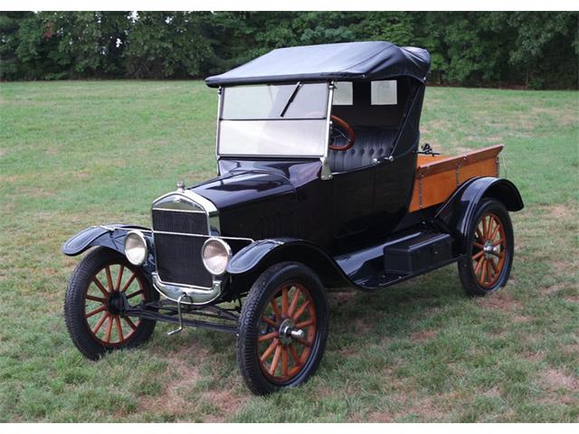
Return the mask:
<svg viewBox="0 0 579 434">
<path fill-rule="evenodd" d="M 497 199 L 511 212 L 525 206 L 517 187 L 507 179 L 484 176 L 461 184 L 434 216 L 434 221 L 453 235 L 460 252 L 466 248 L 470 222 L 486 197 Z"/>
</svg>

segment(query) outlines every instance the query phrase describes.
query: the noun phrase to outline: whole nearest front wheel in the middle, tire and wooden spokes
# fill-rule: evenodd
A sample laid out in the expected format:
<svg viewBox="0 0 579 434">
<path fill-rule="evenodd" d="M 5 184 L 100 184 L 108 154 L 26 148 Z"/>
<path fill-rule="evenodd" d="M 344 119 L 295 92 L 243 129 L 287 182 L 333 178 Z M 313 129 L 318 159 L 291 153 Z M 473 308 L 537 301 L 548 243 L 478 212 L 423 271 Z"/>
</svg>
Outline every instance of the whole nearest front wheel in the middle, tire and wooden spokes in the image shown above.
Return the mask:
<svg viewBox="0 0 579 434">
<path fill-rule="evenodd" d="M 257 395 L 306 382 L 327 339 L 326 291 L 297 262 L 267 269 L 253 284 L 239 321 L 237 361 Z"/>
</svg>

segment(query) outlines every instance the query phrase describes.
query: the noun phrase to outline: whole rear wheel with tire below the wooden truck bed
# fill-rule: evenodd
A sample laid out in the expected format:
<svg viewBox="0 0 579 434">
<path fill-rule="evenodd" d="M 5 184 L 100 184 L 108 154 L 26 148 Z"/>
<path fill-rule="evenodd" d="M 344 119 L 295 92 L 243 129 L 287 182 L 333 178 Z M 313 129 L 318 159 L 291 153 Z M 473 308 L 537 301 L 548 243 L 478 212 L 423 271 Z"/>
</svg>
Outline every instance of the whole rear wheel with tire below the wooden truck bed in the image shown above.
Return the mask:
<svg viewBox="0 0 579 434">
<path fill-rule="evenodd" d="M 484 200 L 470 225 L 467 255 L 459 262 L 460 281 L 467 294 L 485 296 L 504 287 L 513 253 L 513 226 L 507 209 L 495 199 Z"/>
</svg>

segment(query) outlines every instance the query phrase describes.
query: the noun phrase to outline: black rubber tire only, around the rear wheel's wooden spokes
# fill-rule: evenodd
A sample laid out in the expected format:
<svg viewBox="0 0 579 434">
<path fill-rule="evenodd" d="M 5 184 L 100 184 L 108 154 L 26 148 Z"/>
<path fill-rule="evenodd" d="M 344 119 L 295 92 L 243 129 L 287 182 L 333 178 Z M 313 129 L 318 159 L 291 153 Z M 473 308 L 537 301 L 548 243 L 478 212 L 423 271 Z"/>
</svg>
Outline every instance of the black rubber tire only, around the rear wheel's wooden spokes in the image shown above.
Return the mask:
<svg viewBox="0 0 579 434">
<path fill-rule="evenodd" d="M 506 242 L 506 259 L 503 269 L 500 271 L 500 275 L 494 285 L 490 288 L 484 288 L 479 285 L 479 280 L 475 276 L 474 269 L 472 267 L 472 243 L 475 239 L 476 228 L 479 224 L 479 220 L 486 212 L 494 212 L 497 214 L 498 218 L 503 224 L 503 230 L 505 231 L 505 242 Z M 510 269 L 513 265 L 513 257 L 515 253 L 515 241 L 513 224 L 510 221 L 507 208 L 503 203 L 498 202 L 496 199 L 487 198 L 479 203 L 479 208 L 470 222 L 469 235 L 466 243 L 467 255 L 464 259 L 460 259 L 459 266 L 459 277 L 462 288 L 470 297 L 483 297 L 491 292 L 496 291 L 498 288 L 502 288 L 507 284 L 508 277 L 510 276 Z"/>
</svg>

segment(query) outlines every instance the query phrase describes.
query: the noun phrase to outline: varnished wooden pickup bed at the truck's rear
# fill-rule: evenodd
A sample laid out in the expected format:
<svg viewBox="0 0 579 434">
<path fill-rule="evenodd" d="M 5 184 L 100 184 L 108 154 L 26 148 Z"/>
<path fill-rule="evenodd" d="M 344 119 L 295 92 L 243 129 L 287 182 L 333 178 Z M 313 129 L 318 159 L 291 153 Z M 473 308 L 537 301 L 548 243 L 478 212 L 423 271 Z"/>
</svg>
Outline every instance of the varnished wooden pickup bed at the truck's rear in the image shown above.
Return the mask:
<svg viewBox="0 0 579 434">
<path fill-rule="evenodd" d="M 460 156 L 418 156 L 409 212 L 443 203 L 460 184 L 474 176 L 498 176 L 502 145 Z"/>
</svg>

